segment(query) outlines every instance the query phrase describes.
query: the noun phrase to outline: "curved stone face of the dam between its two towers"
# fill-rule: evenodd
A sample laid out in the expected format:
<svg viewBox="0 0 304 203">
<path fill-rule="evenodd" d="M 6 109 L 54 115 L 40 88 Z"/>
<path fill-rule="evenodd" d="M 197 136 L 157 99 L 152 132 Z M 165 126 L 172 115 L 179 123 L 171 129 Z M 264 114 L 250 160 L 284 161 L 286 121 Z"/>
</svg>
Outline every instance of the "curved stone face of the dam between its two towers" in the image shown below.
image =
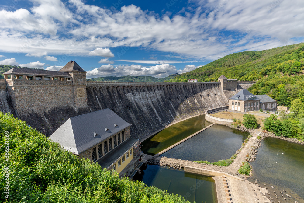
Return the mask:
<svg viewBox="0 0 304 203">
<path fill-rule="evenodd" d="M 220 82 L 195 82 L 191 86 L 147 83 L 147 87 L 145 83 L 87 82 L 87 100 L 90 111 L 110 108 L 131 123 L 131 136 L 137 138 L 164 128 L 163 124 L 168 122 L 203 114 L 206 109 L 228 103 Z"/>
</svg>

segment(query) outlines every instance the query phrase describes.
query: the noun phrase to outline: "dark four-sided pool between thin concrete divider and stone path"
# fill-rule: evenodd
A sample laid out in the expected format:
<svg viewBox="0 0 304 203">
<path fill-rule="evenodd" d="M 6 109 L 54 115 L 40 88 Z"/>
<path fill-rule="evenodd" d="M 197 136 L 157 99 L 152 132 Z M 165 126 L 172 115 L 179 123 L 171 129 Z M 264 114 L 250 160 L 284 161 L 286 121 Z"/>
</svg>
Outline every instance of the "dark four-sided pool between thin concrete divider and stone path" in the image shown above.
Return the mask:
<svg viewBox="0 0 304 203">
<path fill-rule="evenodd" d="M 249 134 L 225 125 L 213 125 L 160 156 L 209 162 L 229 159 Z"/>
</svg>

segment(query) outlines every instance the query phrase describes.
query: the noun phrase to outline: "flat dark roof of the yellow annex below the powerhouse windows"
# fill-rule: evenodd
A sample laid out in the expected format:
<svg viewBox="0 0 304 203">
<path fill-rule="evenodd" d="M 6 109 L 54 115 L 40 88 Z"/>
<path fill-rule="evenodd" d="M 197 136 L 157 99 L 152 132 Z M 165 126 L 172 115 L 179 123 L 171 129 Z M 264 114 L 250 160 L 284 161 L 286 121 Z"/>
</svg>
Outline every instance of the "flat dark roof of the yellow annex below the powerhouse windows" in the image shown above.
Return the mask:
<svg viewBox="0 0 304 203">
<path fill-rule="evenodd" d="M 129 138 L 126 141 L 119 144 L 117 147 L 112 149 L 106 155 L 104 155 L 101 159 L 98 160 L 99 165 L 102 168 L 111 166 L 114 161 L 116 161 L 120 156 L 122 156 L 128 149 L 130 149 L 138 139 Z M 133 155 L 131 155 L 133 156 Z M 129 155 L 130 158 L 130 155 Z M 117 166 L 116 166 L 117 167 Z"/>
</svg>

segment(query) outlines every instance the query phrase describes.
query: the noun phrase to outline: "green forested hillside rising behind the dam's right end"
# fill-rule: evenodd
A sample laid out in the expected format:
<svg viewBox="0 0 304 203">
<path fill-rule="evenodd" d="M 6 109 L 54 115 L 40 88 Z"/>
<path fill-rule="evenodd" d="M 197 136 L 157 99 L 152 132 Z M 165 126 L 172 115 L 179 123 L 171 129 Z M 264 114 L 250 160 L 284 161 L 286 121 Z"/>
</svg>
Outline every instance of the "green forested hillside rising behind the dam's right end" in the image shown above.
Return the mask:
<svg viewBox="0 0 304 203">
<path fill-rule="evenodd" d="M 241 81 L 254 81 L 274 73 L 295 75 L 303 69 L 303 50 L 304 43 L 300 43 L 263 51 L 234 53 L 178 75 L 171 82 L 188 81 L 190 76 L 198 81 L 209 82 L 217 81 L 220 75 Z"/>
</svg>

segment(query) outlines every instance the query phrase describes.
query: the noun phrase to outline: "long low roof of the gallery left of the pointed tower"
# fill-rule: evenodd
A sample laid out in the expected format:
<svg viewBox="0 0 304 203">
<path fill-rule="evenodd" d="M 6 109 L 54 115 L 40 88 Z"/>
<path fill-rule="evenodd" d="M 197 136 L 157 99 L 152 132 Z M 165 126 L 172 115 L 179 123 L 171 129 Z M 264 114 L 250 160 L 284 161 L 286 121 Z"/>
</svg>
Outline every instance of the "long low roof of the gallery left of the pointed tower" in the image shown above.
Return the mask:
<svg viewBox="0 0 304 203">
<path fill-rule="evenodd" d="M 12 68 L 8 72 L 3 73 L 4 75 L 39 75 L 39 76 L 53 76 L 53 77 L 71 77 L 68 72 L 58 72 L 58 71 L 47 71 L 47 70 L 37 70 L 31 68 Z"/>
</svg>

